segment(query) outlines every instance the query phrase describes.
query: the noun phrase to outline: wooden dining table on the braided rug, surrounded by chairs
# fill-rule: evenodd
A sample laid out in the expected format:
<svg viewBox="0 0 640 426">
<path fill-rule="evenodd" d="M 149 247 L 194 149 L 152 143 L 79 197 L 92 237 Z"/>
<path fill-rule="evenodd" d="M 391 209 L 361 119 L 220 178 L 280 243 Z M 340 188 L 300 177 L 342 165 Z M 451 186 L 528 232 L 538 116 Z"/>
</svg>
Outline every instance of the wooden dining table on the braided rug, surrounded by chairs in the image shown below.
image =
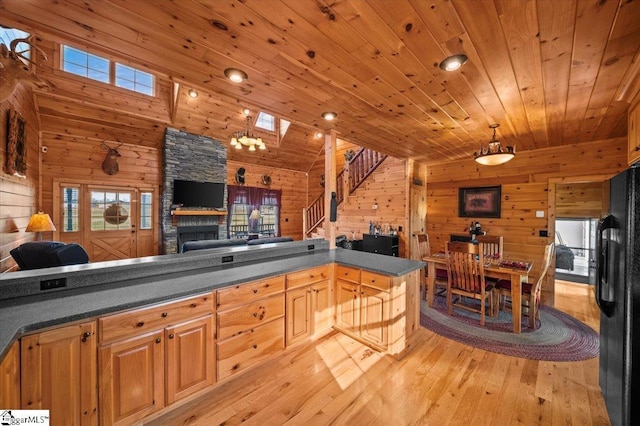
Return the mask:
<svg viewBox="0 0 640 426">
<path fill-rule="evenodd" d="M 427 263 L 427 304 L 433 307 L 435 299 L 435 277 L 438 266 L 446 269 L 447 258 L 445 253 L 434 253 L 422 258 Z M 511 313 L 513 316 L 513 332 L 522 331 L 522 283 L 528 282 L 529 272 L 533 262 L 527 260 L 511 259 L 485 259 L 484 275 L 496 279 L 511 281 Z"/>
</svg>

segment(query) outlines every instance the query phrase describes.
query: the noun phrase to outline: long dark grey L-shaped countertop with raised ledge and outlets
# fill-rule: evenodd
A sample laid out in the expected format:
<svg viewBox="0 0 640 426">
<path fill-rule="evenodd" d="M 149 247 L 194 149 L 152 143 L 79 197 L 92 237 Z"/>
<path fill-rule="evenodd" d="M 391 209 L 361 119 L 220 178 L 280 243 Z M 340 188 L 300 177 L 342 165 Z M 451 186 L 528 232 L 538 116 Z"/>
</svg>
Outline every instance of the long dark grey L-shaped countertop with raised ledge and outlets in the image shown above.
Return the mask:
<svg viewBox="0 0 640 426">
<path fill-rule="evenodd" d="M 225 256 L 234 261 L 223 264 Z M 33 331 L 328 263 L 396 277 L 425 265 L 342 248 L 329 250 L 325 240 L 305 240 L 3 274 L 0 361 L 13 341 Z M 67 278 L 68 287 L 40 290 L 40 281 L 61 277 Z M 8 297 L 11 290 L 18 296 Z"/>
</svg>

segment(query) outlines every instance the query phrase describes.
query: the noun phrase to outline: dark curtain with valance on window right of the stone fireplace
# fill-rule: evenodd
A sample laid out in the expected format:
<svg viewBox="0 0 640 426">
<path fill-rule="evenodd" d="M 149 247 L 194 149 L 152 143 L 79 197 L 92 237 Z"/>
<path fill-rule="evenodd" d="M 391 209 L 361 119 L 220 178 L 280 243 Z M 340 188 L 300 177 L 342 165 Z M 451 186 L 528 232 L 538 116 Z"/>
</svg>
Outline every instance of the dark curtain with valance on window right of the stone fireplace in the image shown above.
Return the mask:
<svg viewBox="0 0 640 426">
<path fill-rule="evenodd" d="M 234 204 L 246 204 L 247 223 L 249 224 L 249 232 L 258 232 L 260 224 L 260 209 L 262 205 L 275 205 L 278 211 L 278 223 L 280 222 L 280 206 L 282 204 L 282 190 L 256 188 L 253 186 L 227 186 L 227 235 L 231 235 L 231 223 L 235 214 Z M 278 226 L 280 229 L 280 226 Z"/>
</svg>

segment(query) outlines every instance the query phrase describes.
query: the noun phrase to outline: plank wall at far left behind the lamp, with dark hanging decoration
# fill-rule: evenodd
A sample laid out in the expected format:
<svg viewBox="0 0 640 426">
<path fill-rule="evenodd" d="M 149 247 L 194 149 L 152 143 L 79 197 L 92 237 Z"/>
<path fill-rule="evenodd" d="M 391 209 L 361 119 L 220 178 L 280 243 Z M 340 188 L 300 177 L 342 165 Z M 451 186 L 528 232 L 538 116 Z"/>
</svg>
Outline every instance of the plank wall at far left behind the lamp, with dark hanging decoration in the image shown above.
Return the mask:
<svg viewBox="0 0 640 426">
<path fill-rule="evenodd" d="M 27 176 L 19 178 L 7 174 L 7 130 L 9 110 L 13 107 L 27 124 Z M 29 218 L 36 212 L 38 192 L 40 125 L 31 90 L 18 85 L 13 95 L 0 104 L 0 272 L 14 268 L 9 253 L 13 248 L 36 239 L 25 232 Z M 46 235 L 45 235 L 46 237 Z"/>
</svg>

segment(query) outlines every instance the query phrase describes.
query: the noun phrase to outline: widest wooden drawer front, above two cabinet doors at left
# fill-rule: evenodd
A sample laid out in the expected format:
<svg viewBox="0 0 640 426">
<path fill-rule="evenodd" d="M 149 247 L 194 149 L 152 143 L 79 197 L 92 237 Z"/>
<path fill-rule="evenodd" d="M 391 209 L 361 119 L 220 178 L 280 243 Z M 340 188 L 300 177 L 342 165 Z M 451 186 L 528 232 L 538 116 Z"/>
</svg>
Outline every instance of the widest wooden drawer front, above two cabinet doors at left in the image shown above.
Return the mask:
<svg viewBox="0 0 640 426">
<path fill-rule="evenodd" d="M 102 317 L 100 341 L 135 336 L 177 322 L 213 313 L 213 293 Z"/>
</svg>

